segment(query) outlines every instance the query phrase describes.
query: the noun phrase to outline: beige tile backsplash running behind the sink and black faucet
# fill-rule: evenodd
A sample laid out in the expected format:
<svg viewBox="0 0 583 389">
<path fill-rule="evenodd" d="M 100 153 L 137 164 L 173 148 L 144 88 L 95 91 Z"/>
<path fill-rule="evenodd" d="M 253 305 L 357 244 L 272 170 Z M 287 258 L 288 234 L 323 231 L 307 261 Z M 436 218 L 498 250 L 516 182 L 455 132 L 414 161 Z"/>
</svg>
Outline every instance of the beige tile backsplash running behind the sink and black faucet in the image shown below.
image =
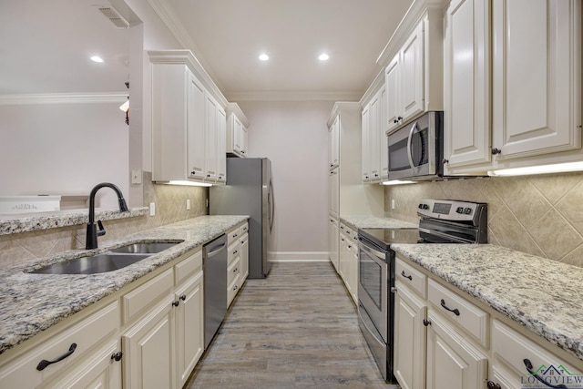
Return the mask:
<svg viewBox="0 0 583 389">
<path fill-rule="evenodd" d="M 144 205 L 156 203 L 155 216 L 105 220 L 106 235 L 99 241 L 122 238 L 139 230 L 148 230 L 180 220 L 207 214 L 209 189 L 175 185 L 154 185 L 150 172 L 144 172 Z M 186 210 L 186 200 L 190 210 Z M 86 226 L 78 225 L 51 230 L 0 236 L 0 269 L 23 261 L 54 255 L 62 251 L 85 248 Z"/>
</svg>

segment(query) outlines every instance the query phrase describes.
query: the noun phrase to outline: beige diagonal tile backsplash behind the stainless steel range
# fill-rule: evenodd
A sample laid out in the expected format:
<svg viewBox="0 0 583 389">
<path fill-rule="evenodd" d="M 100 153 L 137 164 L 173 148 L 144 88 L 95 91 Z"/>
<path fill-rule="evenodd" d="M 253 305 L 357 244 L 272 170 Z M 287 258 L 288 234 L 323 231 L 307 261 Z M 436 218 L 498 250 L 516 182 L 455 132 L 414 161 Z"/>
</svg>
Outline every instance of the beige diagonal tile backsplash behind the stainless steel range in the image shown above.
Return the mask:
<svg viewBox="0 0 583 389">
<path fill-rule="evenodd" d="M 385 215 L 416 223 L 422 199 L 486 202 L 489 243 L 583 267 L 582 173 L 385 187 Z"/>
</svg>

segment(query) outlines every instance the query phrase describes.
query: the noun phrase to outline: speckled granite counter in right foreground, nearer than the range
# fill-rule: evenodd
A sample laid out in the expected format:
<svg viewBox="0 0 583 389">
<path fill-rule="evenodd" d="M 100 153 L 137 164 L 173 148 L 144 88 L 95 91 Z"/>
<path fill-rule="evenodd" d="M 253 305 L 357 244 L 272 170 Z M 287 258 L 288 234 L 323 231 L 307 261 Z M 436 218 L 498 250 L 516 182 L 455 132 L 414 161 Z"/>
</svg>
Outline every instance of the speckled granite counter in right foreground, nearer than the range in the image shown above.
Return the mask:
<svg viewBox="0 0 583 389">
<path fill-rule="evenodd" d="M 582 268 L 490 244 L 392 247 L 583 360 Z"/>
</svg>

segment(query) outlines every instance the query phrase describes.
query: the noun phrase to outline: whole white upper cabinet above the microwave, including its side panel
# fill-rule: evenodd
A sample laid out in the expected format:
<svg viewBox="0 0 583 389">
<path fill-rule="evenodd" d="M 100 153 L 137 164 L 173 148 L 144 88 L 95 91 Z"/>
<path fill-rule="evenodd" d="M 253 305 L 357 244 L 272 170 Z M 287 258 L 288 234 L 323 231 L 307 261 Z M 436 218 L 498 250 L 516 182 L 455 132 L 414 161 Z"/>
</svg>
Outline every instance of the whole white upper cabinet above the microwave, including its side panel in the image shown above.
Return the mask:
<svg viewBox="0 0 583 389">
<path fill-rule="evenodd" d="M 442 20 L 440 6 L 426 8 L 385 68 L 385 131 L 398 128 L 425 111 L 443 109 Z"/>
</svg>

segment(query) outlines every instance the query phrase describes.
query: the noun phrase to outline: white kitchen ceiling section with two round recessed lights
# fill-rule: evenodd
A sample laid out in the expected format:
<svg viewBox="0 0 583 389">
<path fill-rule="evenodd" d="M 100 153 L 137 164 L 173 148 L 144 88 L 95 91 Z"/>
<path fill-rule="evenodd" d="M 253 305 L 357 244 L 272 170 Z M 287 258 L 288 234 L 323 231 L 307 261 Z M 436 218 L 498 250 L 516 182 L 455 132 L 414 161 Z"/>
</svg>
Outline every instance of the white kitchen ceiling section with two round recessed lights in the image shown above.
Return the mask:
<svg viewBox="0 0 583 389">
<path fill-rule="evenodd" d="M 230 101 L 359 99 L 412 0 L 151 0 Z M 265 52 L 270 60 L 261 62 Z M 318 60 L 325 52 L 328 61 Z"/>
</svg>

